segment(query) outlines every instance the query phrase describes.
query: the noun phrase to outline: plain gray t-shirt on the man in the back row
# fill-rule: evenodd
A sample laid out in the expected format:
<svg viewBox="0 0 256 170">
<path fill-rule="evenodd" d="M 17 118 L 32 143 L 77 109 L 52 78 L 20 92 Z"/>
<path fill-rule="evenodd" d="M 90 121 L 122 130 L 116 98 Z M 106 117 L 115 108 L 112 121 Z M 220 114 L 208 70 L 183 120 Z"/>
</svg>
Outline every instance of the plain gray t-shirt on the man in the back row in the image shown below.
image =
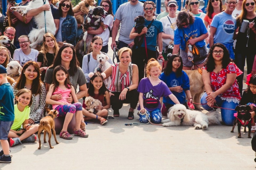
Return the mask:
<svg viewBox="0 0 256 170">
<path fill-rule="evenodd" d="M 121 21 L 120 33 L 119 33 L 119 41 L 125 42 L 127 44 L 131 43 L 133 39 L 130 39 L 130 33 L 135 24 L 134 18 L 144 15 L 143 12 L 143 3 L 139 1 L 136 5 L 131 5 L 130 2 L 124 3 L 120 5 L 115 13 L 115 19 Z"/>
</svg>

